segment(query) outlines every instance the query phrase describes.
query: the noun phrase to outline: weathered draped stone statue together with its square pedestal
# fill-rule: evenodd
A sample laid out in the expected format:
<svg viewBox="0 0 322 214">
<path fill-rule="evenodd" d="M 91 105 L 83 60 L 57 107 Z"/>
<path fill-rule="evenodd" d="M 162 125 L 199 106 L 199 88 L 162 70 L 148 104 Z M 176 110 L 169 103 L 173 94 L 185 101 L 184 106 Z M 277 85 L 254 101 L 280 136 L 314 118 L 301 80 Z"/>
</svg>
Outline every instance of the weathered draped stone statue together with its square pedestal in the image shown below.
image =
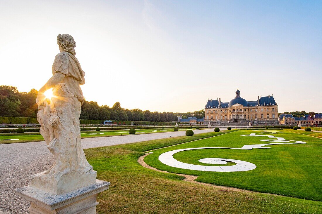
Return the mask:
<svg viewBox="0 0 322 214">
<path fill-rule="evenodd" d="M 84 97 L 80 85 L 85 83 L 85 73 L 75 57 L 73 37 L 59 34 L 57 44 L 60 53 L 52 65 L 53 76 L 39 90 L 36 99 L 40 133 L 56 160 L 47 171 L 32 175 L 30 186 L 18 188 L 16 192 L 31 201 L 31 213 L 52 213 L 44 211 L 41 205 L 48 199 L 62 205 L 59 207 L 53 202 L 52 210 L 59 207 L 55 213 L 78 213 L 79 210 L 95 213 L 96 194 L 108 189 L 109 182 L 96 179 L 96 171 L 86 160 L 81 146 L 80 114 Z M 49 99 L 44 92 L 51 88 Z M 84 193 L 89 205 L 84 205 Z"/>
</svg>

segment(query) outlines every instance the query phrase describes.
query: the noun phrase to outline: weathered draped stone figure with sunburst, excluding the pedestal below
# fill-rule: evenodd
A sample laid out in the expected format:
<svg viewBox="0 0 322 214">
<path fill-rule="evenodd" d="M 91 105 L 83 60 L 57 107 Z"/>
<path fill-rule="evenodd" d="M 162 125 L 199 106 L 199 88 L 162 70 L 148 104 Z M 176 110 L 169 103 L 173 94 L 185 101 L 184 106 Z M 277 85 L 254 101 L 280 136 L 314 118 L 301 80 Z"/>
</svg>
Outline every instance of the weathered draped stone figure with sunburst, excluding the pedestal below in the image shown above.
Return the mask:
<svg viewBox="0 0 322 214">
<path fill-rule="evenodd" d="M 75 57 L 76 43 L 59 34 L 60 53 L 52 65 L 52 77 L 39 90 L 37 120 L 40 133 L 56 160 L 45 172 L 32 175 L 31 186 L 53 194 L 66 193 L 96 183 L 96 171 L 87 162 L 81 146 L 80 114 L 84 97 L 80 85 L 85 73 Z M 44 92 L 52 88 L 53 97 Z"/>
</svg>

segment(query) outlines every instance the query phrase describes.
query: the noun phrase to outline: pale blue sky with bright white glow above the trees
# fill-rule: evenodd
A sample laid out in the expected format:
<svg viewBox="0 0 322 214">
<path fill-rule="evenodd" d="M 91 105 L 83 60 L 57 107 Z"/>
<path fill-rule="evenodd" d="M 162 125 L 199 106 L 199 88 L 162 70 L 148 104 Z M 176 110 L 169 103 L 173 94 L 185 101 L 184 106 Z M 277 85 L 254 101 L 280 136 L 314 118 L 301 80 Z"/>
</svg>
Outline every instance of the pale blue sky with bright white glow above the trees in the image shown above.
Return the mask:
<svg viewBox="0 0 322 214">
<path fill-rule="evenodd" d="M 73 36 L 88 101 L 187 112 L 274 95 L 322 112 L 321 1 L 2 1 L 0 85 L 39 90 Z"/>
</svg>

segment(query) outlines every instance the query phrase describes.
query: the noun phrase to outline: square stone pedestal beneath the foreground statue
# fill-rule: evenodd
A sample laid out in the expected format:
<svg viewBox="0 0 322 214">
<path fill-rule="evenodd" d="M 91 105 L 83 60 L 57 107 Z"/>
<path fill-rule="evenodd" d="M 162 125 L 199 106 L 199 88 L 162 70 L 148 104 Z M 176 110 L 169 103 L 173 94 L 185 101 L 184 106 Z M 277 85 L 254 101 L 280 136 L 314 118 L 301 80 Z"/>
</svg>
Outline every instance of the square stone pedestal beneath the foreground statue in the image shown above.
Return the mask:
<svg viewBox="0 0 322 214">
<path fill-rule="evenodd" d="M 60 195 L 30 185 L 17 188 L 15 192 L 31 202 L 31 214 L 95 214 L 96 196 L 109 189 L 109 184 L 97 179 L 96 183 Z"/>
</svg>

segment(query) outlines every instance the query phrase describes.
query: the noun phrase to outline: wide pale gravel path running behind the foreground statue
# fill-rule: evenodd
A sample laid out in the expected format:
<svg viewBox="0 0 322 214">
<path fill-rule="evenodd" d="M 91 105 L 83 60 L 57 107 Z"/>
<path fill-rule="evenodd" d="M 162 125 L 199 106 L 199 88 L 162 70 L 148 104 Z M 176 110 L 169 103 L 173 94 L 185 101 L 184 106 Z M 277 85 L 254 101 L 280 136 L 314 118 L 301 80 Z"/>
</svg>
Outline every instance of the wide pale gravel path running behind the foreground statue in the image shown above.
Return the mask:
<svg viewBox="0 0 322 214">
<path fill-rule="evenodd" d="M 195 134 L 211 132 L 213 129 L 194 130 Z M 83 148 L 112 146 L 146 140 L 184 136 L 185 131 L 140 135 L 125 135 L 100 138 L 83 138 Z M 30 203 L 15 195 L 14 189 L 30 184 L 30 176 L 50 168 L 54 157 L 46 143 L 0 144 L 0 213 L 29 213 Z"/>
</svg>

